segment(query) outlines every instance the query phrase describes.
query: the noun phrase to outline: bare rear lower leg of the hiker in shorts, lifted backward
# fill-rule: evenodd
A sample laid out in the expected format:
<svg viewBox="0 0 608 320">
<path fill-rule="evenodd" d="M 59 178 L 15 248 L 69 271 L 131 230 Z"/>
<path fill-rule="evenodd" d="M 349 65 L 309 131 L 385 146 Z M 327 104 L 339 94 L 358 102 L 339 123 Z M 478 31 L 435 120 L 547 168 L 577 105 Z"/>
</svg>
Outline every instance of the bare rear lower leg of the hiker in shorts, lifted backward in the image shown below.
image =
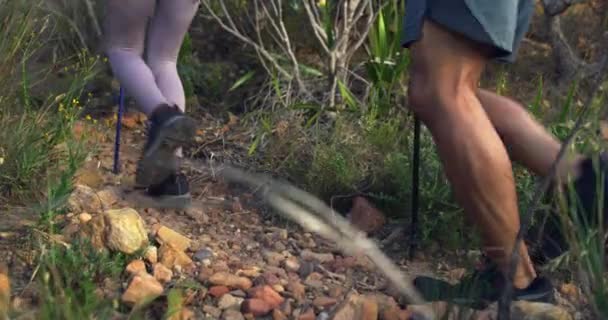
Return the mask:
<svg viewBox="0 0 608 320">
<path fill-rule="evenodd" d="M 548 175 L 561 147 L 559 140 L 514 100 L 484 89 L 477 90 L 477 97 L 512 159 L 539 176 Z M 583 157 L 567 156 L 557 168 L 558 180 L 578 175 Z"/>
</svg>

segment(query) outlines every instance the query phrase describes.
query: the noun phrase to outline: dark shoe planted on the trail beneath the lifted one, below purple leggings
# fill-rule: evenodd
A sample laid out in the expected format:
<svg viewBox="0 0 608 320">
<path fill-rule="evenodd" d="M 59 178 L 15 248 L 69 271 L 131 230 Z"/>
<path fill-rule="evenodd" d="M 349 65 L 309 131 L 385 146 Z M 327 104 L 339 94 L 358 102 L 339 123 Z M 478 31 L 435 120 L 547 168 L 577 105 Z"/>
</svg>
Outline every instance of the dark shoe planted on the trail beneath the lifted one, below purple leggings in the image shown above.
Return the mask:
<svg viewBox="0 0 608 320">
<path fill-rule="evenodd" d="M 149 186 L 146 194 L 154 198 L 155 207 L 181 209 L 191 204 L 188 179 L 182 173 L 170 174 L 161 183 Z"/>
</svg>

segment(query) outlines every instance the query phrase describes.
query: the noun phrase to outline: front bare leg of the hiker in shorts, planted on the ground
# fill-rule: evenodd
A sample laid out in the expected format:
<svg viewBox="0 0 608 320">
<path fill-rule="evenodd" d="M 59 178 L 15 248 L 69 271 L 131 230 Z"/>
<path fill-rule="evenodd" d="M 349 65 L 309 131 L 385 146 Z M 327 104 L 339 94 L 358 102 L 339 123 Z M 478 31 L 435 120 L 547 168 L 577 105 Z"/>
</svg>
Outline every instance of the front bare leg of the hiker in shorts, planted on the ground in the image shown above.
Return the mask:
<svg viewBox="0 0 608 320">
<path fill-rule="evenodd" d="M 410 105 L 430 130 L 458 202 L 503 272 L 519 229 L 517 196 L 507 151 L 477 98 L 487 61 L 484 48 L 426 21 L 410 47 Z M 514 285 L 536 277 L 524 245 Z"/>
</svg>

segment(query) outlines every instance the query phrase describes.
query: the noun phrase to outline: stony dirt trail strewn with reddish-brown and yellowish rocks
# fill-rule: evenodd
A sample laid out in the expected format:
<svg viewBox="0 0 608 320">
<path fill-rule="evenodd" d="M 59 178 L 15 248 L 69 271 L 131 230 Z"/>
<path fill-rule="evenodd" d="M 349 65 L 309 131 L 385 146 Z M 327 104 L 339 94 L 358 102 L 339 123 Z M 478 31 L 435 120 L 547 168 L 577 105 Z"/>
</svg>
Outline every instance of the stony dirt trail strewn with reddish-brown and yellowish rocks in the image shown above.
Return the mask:
<svg viewBox="0 0 608 320">
<path fill-rule="evenodd" d="M 220 160 L 236 157 L 235 149 L 236 153 L 246 152 L 230 146 L 246 137 L 246 130 L 231 126 L 236 127 L 206 117 L 197 137 L 200 150 L 213 152 Z M 170 317 L 173 320 L 435 319 L 430 316 L 433 313 L 451 313 L 450 319 L 461 319 L 445 303 L 404 304 L 363 254 L 343 254 L 332 243 L 267 213 L 247 191 L 230 188 L 196 168 L 186 168 L 192 177 L 195 202 L 191 208 L 147 206 L 131 187 L 144 141 L 143 118 L 130 114 L 123 127 L 122 172 L 118 175 L 111 172 L 111 119 L 77 127 L 77 134 L 86 132 L 88 139 L 100 142 L 99 150 L 78 172 L 69 213 L 56 217 L 62 226 L 59 235 L 47 237 L 47 241 L 66 246 L 86 238 L 99 249 L 139 253 L 140 258 L 128 262 L 120 279 L 99 283 L 100 296 L 128 307 L 152 301 L 146 312 L 150 319 L 163 317 L 172 288 L 184 290 L 180 308 Z M 351 220 L 370 234 L 386 234 L 398 225 L 386 221 L 365 199 L 357 198 L 355 203 Z M 27 217 L 11 217 L 13 228 L 3 228 L 7 231 L 0 233 L 0 261 L 9 266 L 9 270 L 0 270 L 0 298 L 7 292 L 12 295 L 0 299 L 0 315 L 9 307 L 26 311 L 35 300 L 30 282 L 35 259 L 31 254 L 26 257 L 27 249 L 19 249 L 32 223 L 27 223 Z M 405 258 L 405 248 L 405 241 L 396 239 L 383 250 L 409 275 L 457 280 L 464 273 L 461 267 L 467 254 L 436 250 L 410 261 Z M 513 319 L 585 319 L 579 309 L 578 288 L 571 284 L 558 288 L 560 306 L 518 302 Z M 495 319 L 494 310 L 495 306 L 465 311 L 470 319 Z M 116 314 L 114 318 L 127 316 Z"/>
</svg>

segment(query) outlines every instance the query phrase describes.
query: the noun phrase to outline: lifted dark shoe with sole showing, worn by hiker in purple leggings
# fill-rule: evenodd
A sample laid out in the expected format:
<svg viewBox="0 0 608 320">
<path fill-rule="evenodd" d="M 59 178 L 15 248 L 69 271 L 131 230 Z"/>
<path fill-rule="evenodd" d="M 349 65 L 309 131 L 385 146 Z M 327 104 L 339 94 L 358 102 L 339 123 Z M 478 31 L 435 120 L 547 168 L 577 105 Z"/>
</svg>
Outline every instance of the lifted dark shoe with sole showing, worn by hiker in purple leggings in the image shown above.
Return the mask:
<svg viewBox="0 0 608 320">
<path fill-rule="evenodd" d="M 149 119 L 148 140 L 144 145 L 135 175 L 136 187 L 159 185 L 179 170 L 179 147 L 193 140 L 194 120 L 177 107 L 162 105 Z"/>
</svg>

